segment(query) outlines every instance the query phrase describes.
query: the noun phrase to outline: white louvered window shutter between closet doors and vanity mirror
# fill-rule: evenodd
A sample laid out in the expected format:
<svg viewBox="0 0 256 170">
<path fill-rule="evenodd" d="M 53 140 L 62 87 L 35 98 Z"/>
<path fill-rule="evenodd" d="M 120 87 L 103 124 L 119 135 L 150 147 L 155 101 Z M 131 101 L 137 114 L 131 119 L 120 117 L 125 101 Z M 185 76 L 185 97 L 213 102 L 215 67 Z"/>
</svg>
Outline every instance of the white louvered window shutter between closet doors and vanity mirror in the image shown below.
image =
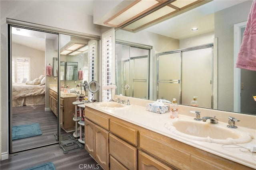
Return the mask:
<svg viewBox="0 0 256 170">
<path fill-rule="evenodd" d="M 114 33 L 109 31 L 102 35 L 102 86 L 108 86 L 115 82 L 115 60 L 114 60 Z M 114 90 L 112 91 L 114 93 Z M 111 90 L 102 90 L 102 100 L 111 99 Z"/>
</svg>

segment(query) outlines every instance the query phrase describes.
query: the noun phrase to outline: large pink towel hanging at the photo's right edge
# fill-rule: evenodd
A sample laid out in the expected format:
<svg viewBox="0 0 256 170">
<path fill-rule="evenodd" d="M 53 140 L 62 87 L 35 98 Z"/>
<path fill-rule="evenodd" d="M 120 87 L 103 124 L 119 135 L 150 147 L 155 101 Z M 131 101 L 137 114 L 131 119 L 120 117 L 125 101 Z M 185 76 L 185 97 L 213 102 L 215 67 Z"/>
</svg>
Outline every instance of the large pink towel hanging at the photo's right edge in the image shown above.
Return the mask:
<svg viewBox="0 0 256 170">
<path fill-rule="evenodd" d="M 236 67 L 256 71 L 256 0 L 253 0 Z"/>
</svg>

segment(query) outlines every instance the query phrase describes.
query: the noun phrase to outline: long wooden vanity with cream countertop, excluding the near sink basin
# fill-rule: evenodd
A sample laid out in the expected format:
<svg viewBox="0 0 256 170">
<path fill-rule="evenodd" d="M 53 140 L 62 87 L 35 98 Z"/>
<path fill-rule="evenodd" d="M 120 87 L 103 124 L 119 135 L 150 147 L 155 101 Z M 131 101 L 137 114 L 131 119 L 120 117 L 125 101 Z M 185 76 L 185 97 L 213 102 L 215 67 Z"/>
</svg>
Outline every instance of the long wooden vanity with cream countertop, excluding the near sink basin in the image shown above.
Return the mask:
<svg viewBox="0 0 256 170">
<path fill-rule="evenodd" d="M 256 156 L 241 152 L 239 148 L 226 148 L 223 144 L 186 139 L 172 133 L 164 126 L 172 120 L 170 112 L 158 114 L 146 111 L 146 104 L 150 101 L 121 96 L 118 98 L 126 101 L 129 99 L 131 105 L 121 107 L 114 102 L 85 104 L 85 149 L 105 170 L 256 168 Z M 190 113 L 194 109 L 195 107 L 180 106 L 178 119 L 194 121 L 195 115 Z M 215 114 L 219 121 L 228 116 L 238 116 L 241 119 L 236 113 L 223 116 L 224 113 L 217 113 L 220 111 L 212 113 L 213 110 L 210 109 L 198 110 L 202 116 Z M 250 119 L 255 122 L 255 116 L 248 116 L 244 121 Z M 228 122 L 228 118 L 226 120 Z M 209 125 L 210 122 L 204 123 Z M 253 126 L 238 128 L 246 129 L 245 131 L 248 129 L 247 132 L 255 138 L 255 125 Z M 255 144 L 255 139 L 251 139 L 249 143 Z M 246 147 L 247 144 L 238 145 Z"/>
</svg>

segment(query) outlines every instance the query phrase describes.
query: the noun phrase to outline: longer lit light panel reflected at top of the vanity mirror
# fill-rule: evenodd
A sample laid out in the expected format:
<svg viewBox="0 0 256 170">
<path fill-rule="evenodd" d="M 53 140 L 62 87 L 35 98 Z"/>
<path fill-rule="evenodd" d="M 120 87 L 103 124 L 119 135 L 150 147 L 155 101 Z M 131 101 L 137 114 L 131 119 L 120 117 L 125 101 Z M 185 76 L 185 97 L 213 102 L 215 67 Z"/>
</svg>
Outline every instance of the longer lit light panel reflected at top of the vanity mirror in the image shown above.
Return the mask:
<svg viewBox="0 0 256 170">
<path fill-rule="evenodd" d="M 124 27 L 124 29 L 131 29 L 134 30 L 142 25 L 145 25 L 147 23 L 150 23 L 154 20 L 157 20 L 158 18 L 165 16 L 167 14 L 170 14 L 171 12 L 174 12 L 175 9 L 170 8 L 168 6 L 164 6 L 163 8 L 160 8 L 159 10 L 152 12 L 151 14 L 127 25 L 126 27 Z"/>
</svg>

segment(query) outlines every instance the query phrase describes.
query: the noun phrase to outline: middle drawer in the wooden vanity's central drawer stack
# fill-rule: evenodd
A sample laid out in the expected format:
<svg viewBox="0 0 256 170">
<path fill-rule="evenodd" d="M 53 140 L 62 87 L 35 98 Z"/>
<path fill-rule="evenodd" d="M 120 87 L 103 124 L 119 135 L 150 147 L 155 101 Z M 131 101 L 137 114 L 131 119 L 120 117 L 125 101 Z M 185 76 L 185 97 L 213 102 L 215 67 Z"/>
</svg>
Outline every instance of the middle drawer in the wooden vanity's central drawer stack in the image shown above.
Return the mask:
<svg viewBox="0 0 256 170">
<path fill-rule="evenodd" d="M 126 168 L 137 169 L 137 149 L 112 134 L 109 134 L 109 153 Z"/>
</svg>

